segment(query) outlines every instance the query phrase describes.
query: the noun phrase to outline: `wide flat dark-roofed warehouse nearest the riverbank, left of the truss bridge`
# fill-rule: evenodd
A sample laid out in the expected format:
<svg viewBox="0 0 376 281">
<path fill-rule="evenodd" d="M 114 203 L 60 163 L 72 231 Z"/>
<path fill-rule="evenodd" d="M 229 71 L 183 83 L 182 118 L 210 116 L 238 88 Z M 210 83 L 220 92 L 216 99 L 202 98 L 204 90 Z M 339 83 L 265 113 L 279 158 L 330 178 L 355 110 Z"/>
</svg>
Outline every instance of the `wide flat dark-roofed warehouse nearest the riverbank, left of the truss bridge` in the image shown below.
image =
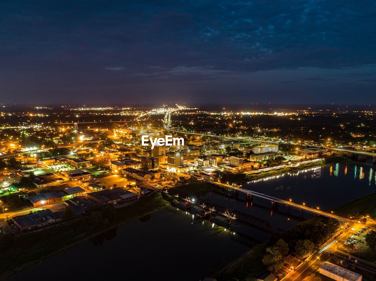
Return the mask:
<svg viewBox="0 0 376 281">
<path fill-rule="evenodd" d="M 102 206 L 108 204 L 128 203 L 138 199 L 138 195 L 123 188 L 103 189 L 101 191 L 91 192 L 86 196 Z"/>
</svg>

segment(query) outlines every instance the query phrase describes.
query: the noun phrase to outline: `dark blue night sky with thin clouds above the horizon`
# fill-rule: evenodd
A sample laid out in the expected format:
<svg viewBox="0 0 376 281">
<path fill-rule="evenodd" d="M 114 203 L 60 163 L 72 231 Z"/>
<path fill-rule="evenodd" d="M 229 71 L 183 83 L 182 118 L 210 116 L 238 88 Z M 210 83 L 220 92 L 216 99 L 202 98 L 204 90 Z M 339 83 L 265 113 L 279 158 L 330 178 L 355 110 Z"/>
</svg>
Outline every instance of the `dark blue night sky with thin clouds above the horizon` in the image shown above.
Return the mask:
<svg viewBox="0 0 376 281">
<path fill-rule="evenodd" d="M 1 1 L 3 103 L 376 103 L 376 2 Z"/>
</svg>

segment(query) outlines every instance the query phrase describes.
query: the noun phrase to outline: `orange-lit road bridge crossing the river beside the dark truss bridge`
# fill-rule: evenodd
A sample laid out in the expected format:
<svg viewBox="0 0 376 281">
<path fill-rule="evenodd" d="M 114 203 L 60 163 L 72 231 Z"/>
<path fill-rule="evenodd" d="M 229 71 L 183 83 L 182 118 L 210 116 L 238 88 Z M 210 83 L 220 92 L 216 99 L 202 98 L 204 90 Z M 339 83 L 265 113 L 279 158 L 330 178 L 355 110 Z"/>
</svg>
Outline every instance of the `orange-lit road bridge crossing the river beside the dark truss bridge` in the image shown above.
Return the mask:
<svg viewBox="0 0 376 281">
<path fill-rule="evenodd" d="M 252 191 L 252 190 L 240 188 L 240 187 L 237 187 L 237 186 L 227 185 L 227 184 L 221 183 L 221 182 L 212 182 L 212 181 L 209 181 L 209 182 L 213 183 L 213 184 L 215 184 L 217 186 L 235 189 L 235 190 L 238 190 L 240 192 L 244 192 L 246 194 L 249 194 L 249 195 L 252 195 L 252 196 L 255 196 L 255 197 L 259 197 L 259 198 L 264 198 L 266 200 L 270 200 L 273 205 L 275 203 L 280 203 L 280 204 L 284 204 L 286 206 L 297 208 L 297 209 L 302 210 L 302 211 L 306 211 L 306 212 L 309 212 L 309 213 L 314 213 L 316 215 L 326 216 L 327 218 L 334 218 L 334 219 L 338 219 L 339 221 L 344 221 L 344 222 L 349 221 L 349 219 L 343 218 L 341 216 L 337 216 L 337 215 L 335 215 L 333 213 L 324 212 L 324 211 L 322 211 L 320 209 L 314 209 L 314 208 L 311 208 L 311 207 L 308 207 L 308 206 L 305 206 L 305 205 L 302 205 L 302 204 L 294 203 L 292 201 L 275 198 L 275 197 L 272 197 L 272 196 L 269 196 L 269 195 L 266 195 L 266 194 L 262 194 L 262 193 L 259 193 L 259 192 L 256 192 L 256 191 Z"/>
</svg>

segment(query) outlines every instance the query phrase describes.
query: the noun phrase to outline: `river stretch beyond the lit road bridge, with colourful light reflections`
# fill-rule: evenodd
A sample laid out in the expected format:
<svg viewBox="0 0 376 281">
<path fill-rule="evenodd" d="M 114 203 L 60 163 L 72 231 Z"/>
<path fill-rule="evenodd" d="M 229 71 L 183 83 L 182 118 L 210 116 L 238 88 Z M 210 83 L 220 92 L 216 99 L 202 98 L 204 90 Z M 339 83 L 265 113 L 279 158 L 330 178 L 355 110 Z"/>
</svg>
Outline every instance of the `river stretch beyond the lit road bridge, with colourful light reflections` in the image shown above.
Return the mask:
<svg viewBox="0 0 376 281">
<path fill-rule="evenodd" d="M 327 210 L 374 193 L 375 176 L 373 165 L 347 162 L 254 180 L 242 187 Z"/>
</svg>

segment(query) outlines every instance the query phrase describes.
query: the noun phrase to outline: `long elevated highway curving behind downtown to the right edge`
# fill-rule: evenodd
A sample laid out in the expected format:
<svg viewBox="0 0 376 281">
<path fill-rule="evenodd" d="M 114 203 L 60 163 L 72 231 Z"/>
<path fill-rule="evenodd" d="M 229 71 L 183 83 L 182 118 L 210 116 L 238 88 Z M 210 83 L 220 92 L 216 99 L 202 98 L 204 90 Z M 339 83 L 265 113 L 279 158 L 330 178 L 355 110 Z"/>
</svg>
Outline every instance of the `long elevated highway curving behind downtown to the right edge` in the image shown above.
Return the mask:
<svg viewBox="0 0 376 281">
<path fill-rule="evenodd" d="M 209 135 L 209 134 L 202 134 L 202 133 L 197 133 L 197 132 L 184 132 L 184 131 L 179 131 L 173 128 L 165 127 L 167 131 L 171 132 L 176 132 L 180 134 L 190 134 L 190 135 L 201 135 L 204 137 L 213 137 L 213 138 L 223 138 L 226 140 L 236 140 L 236 141 L 252 141 L 252 142 L 259 142 L 259 143 L 271 143 L 271 144 L 280 144 L 282 142 L 280 141 L 268 141 L 268 140 L 258 140 L 255 138 L 233 138 L 233 137 L 221 137 L 217 135 Z M 299 146 L 305 146 L 305 144 L 301 143 L 290 143 L 294 145 L 299 145 Z M 376 153 L 374 152 L 367 152 L 367 151 L 362 151 L 362 150 L 351 150 L 351 149 L 343 149 L 343 148 L 338 148 L 338 147 L 329 147 L 329 146 L 318 146 L 314 144 L 309 144 L 309 146 L 314 146 L 314 147 L 322 147 L 323 149 L 327 150 L 335 150 L 335 151 L 340 151 L 340 152 L 346 152 L 346 153 L 354 153 L 354 154 L 360 154 L 360 155 L 366 155 L 366 156 L 373 156 L 374 161 L 376 161 Z"/>
</svg>

